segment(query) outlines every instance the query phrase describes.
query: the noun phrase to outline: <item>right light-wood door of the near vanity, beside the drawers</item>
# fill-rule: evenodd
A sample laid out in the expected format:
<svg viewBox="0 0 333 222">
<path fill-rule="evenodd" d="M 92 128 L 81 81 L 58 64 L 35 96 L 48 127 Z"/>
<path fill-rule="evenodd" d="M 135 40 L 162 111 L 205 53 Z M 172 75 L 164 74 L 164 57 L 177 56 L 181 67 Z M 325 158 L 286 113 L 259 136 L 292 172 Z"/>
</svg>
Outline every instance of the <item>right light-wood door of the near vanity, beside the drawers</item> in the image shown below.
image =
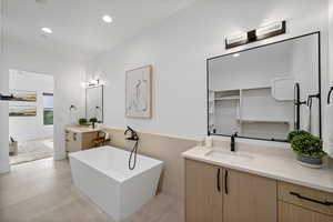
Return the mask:
<svg viewBox="0 0 333 222">
<path fill-rule="evenodd" d="M 223 222 L 276 222 L 276 181 L 225 169 Z"/>
</svg>

